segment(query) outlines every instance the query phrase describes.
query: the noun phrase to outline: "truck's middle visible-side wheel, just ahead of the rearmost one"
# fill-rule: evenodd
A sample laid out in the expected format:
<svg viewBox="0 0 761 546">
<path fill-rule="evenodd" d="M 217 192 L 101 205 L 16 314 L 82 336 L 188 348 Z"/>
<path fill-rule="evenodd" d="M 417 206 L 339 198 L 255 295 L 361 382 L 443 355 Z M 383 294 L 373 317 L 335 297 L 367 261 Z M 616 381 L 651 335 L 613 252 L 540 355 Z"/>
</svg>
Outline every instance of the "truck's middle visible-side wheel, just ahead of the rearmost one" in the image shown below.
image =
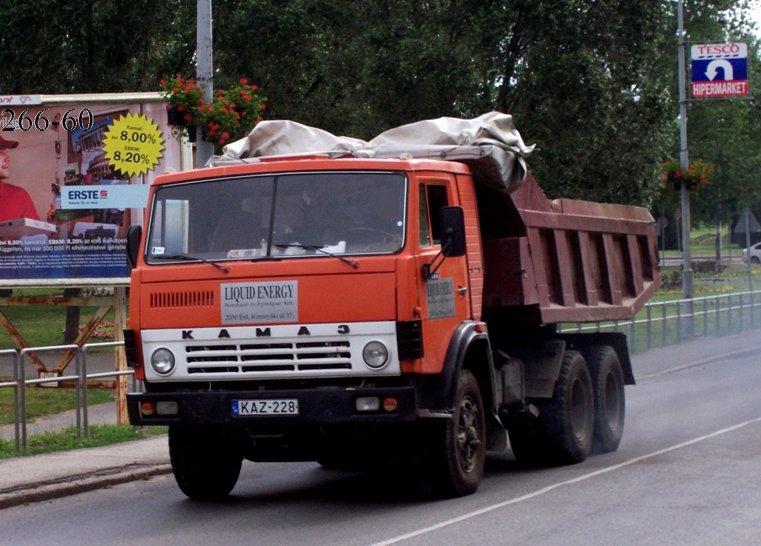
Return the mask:
<svg viewBox="0 0 761 546">
<path fill-rule="evenodd" d="M 555 392 L 542 409 L 549 462 L 570 465 L 586 459 L 594 432 L 594 395 L 589 368 L 578 351 L 563 354 Z"/>
</svg>

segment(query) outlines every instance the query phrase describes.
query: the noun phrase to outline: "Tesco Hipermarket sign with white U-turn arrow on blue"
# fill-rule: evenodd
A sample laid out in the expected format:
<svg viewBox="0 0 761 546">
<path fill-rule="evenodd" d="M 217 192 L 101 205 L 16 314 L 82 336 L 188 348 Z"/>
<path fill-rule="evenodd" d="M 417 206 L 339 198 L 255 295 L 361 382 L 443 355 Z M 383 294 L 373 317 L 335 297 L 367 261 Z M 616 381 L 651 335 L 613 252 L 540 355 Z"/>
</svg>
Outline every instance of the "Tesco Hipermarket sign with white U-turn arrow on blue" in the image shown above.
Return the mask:
<svg viewBox="0 0 761 546">
<path fill-rule="evenodd" d="M 748 94 L 748 46 L 706 43 L 692 46 L 693 98 L 744 97 Z"/>
</svg>

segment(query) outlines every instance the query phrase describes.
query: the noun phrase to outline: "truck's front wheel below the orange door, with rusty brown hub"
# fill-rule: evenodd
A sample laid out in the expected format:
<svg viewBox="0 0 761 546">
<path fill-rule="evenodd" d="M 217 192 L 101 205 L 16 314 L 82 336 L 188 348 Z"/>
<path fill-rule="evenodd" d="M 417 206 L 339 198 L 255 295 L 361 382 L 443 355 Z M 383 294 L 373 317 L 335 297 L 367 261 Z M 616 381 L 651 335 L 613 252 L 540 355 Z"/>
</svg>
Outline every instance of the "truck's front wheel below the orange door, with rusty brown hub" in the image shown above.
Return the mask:
<svg viewBox="0 0 761 546">
<path fill-rule="evenodd" d="M 441 497 L 474 493 L 486 461 L 486 414 L 473 373 L 460 373 L 454 415 L 434 425 L 434 448 L 426 460 L 431 489 Z"/>
</svg>

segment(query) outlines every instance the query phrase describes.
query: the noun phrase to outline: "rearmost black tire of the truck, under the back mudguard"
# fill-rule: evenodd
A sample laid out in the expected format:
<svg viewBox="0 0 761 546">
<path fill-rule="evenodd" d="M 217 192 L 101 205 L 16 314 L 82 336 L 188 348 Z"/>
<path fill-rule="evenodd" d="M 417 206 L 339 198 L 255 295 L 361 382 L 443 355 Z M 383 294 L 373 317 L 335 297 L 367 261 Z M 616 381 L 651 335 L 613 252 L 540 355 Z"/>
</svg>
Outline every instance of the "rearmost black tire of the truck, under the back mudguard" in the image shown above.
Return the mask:
<svg viewBox="0 0 761 546">
<path fill-rule="evenodd" d="M 587 354 L 594 392 L 593 453 L 610 453 L 618 449 L 623 436 L 626 414 L 623 371 L 612 347 L 597 345 Z"/>
</svg>

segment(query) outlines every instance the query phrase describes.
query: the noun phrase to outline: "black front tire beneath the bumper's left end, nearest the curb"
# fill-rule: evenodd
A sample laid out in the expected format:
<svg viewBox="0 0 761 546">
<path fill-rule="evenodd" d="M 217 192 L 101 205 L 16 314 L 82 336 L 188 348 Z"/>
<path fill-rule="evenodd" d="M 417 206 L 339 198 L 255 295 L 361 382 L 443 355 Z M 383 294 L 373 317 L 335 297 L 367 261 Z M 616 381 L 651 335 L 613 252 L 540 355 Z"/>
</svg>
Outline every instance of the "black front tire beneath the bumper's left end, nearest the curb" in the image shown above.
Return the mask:
<svg viewBox="0 0 761 546">
<path fill-rule="evenodd" d="M 221 427 L 169 427 L 169 459 L 180 490 L 191 499 L 228 495 L 240 475 L 243 455 Z"/>
</svg>

